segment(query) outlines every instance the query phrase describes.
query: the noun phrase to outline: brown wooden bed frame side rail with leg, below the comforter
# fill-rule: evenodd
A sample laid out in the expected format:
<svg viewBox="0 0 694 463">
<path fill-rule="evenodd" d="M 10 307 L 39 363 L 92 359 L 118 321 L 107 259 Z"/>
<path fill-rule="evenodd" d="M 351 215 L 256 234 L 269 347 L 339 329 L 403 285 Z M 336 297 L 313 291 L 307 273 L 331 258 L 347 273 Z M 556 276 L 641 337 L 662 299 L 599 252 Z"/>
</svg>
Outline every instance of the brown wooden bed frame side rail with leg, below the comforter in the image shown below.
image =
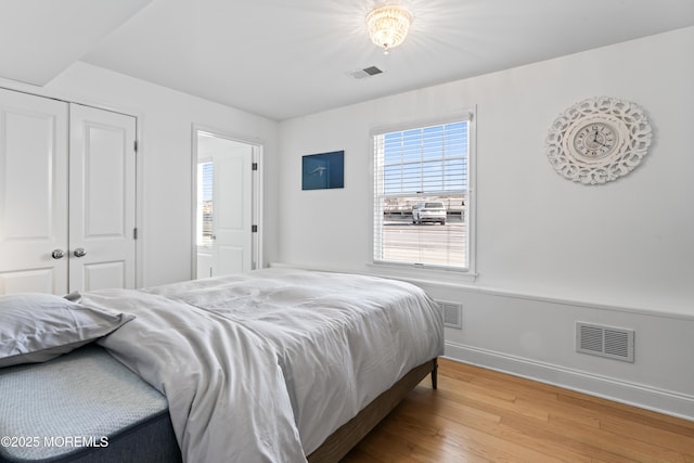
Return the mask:
<svg viewBox="0 0 694 463">
<path fill-rule="evenodd" d="M 432 375 L 432 388 L 437 387 L 438 362 L 437 359 L 429 360 L 412 369 L 390 389 L 381 394 L 369 403 L 357 416 L 345 423 L 342 427 L 331 434 L 325 441 L 316 449 L 308 461 L 310 463 L 334 463 L 345 456 L 359 441 L 373 429 L 388 413 L 414 387 L 426 377 Z"/>
</svg>

